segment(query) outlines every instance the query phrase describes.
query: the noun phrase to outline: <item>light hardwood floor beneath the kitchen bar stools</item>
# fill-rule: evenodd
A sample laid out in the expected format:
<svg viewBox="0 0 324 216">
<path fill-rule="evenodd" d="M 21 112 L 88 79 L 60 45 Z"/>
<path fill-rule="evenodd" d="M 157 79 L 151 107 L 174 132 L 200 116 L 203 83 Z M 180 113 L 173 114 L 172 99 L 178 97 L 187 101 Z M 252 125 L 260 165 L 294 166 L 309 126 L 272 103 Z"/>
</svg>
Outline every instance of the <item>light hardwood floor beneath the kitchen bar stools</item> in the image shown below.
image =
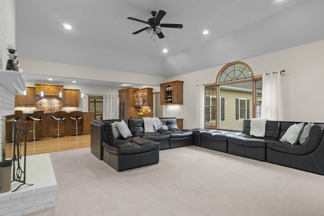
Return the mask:
<svg viewBox="0 0 324 216">
<path fill-rule="evenodd" d="M 24 151 L 24 143 L 21 143 Z M 90 134 L 82 136 L 66 136 L 62 138 L 42 138 L 41 141 L 27 142 L 26 155 L 44 154 L 56 151 L 90 148 Z M 13 156 L 13 144 L 6 143 L 6 158 Z"/>
</svg>

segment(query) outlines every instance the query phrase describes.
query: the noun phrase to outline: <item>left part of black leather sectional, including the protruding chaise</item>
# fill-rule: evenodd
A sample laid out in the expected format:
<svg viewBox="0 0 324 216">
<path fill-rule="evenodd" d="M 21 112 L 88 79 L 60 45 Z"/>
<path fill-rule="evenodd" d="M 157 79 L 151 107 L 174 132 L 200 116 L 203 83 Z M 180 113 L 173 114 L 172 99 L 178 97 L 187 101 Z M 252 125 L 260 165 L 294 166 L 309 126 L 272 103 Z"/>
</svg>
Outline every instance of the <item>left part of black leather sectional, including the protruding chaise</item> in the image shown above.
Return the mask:
<svg viewBox="0 0 324 216">
<path fill-rule="evenodd" d="M 132 137 L 114 139 L 114 121 L 124 120 Z M 176 118 L 160 118 L 162 127 L 144 133 L 143 119 L 95 120 L 91 123 L 91 152 L 117 171 L 158 163 L 159 150 L 189 146 L 192 132 L 178 129 Z"/>
</svg>

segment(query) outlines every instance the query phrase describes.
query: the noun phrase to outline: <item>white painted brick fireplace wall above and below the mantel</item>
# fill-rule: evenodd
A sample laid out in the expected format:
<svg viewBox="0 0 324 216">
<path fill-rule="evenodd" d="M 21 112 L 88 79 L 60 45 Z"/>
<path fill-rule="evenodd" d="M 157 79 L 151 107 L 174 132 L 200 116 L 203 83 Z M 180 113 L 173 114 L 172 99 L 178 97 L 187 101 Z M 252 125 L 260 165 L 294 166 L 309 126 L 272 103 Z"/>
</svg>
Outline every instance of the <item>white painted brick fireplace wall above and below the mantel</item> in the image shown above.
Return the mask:
<svg viewBox="0 0 324 216">
<path fill-rule="evenodd" d="M 0 70 L 6 69 L 8 60 L 8 44 L 15 45 L 15 1 L 1 0 L 0 1 Z M 8 89 L 0 84 L 0 149 L 2 150 L 2 131 L 4 115 L 14 114 L 15 96 Z M 2 151 L 1 151 L 2 152 Z M 0 161 L 2 154 L 0 155 Z"/>
</svg>

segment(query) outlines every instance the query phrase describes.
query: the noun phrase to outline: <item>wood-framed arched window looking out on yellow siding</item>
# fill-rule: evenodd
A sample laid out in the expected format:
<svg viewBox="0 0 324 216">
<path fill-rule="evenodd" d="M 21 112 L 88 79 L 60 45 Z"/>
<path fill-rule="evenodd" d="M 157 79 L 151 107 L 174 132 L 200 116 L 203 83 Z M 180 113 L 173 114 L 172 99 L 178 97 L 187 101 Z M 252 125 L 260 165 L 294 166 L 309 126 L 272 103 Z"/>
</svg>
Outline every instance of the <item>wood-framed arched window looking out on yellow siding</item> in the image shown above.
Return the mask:
<svg viewBox="0 0 324 216">
<path fill-rule="evenodd" d="M 243 119 L 261 116 L 262 77 L 244 62 L 226 64 L 205 87 L 205 127 L 242 129 Z"/>
</svg>

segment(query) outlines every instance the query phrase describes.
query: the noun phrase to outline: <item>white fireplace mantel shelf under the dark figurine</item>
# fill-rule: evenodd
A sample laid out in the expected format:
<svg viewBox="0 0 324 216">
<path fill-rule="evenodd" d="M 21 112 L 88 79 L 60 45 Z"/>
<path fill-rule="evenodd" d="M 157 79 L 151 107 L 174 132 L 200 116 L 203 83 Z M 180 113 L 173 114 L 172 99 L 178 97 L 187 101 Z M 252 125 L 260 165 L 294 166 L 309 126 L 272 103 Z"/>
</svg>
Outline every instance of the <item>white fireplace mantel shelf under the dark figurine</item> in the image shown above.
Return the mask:
<svg viewBox="0 0 324 216">
<path fill-rule="evenodd" d="M 22 72 L 0 70 L 0 84 L 13 94 L 23 94 L 27 87 Z"/>
</svg>

